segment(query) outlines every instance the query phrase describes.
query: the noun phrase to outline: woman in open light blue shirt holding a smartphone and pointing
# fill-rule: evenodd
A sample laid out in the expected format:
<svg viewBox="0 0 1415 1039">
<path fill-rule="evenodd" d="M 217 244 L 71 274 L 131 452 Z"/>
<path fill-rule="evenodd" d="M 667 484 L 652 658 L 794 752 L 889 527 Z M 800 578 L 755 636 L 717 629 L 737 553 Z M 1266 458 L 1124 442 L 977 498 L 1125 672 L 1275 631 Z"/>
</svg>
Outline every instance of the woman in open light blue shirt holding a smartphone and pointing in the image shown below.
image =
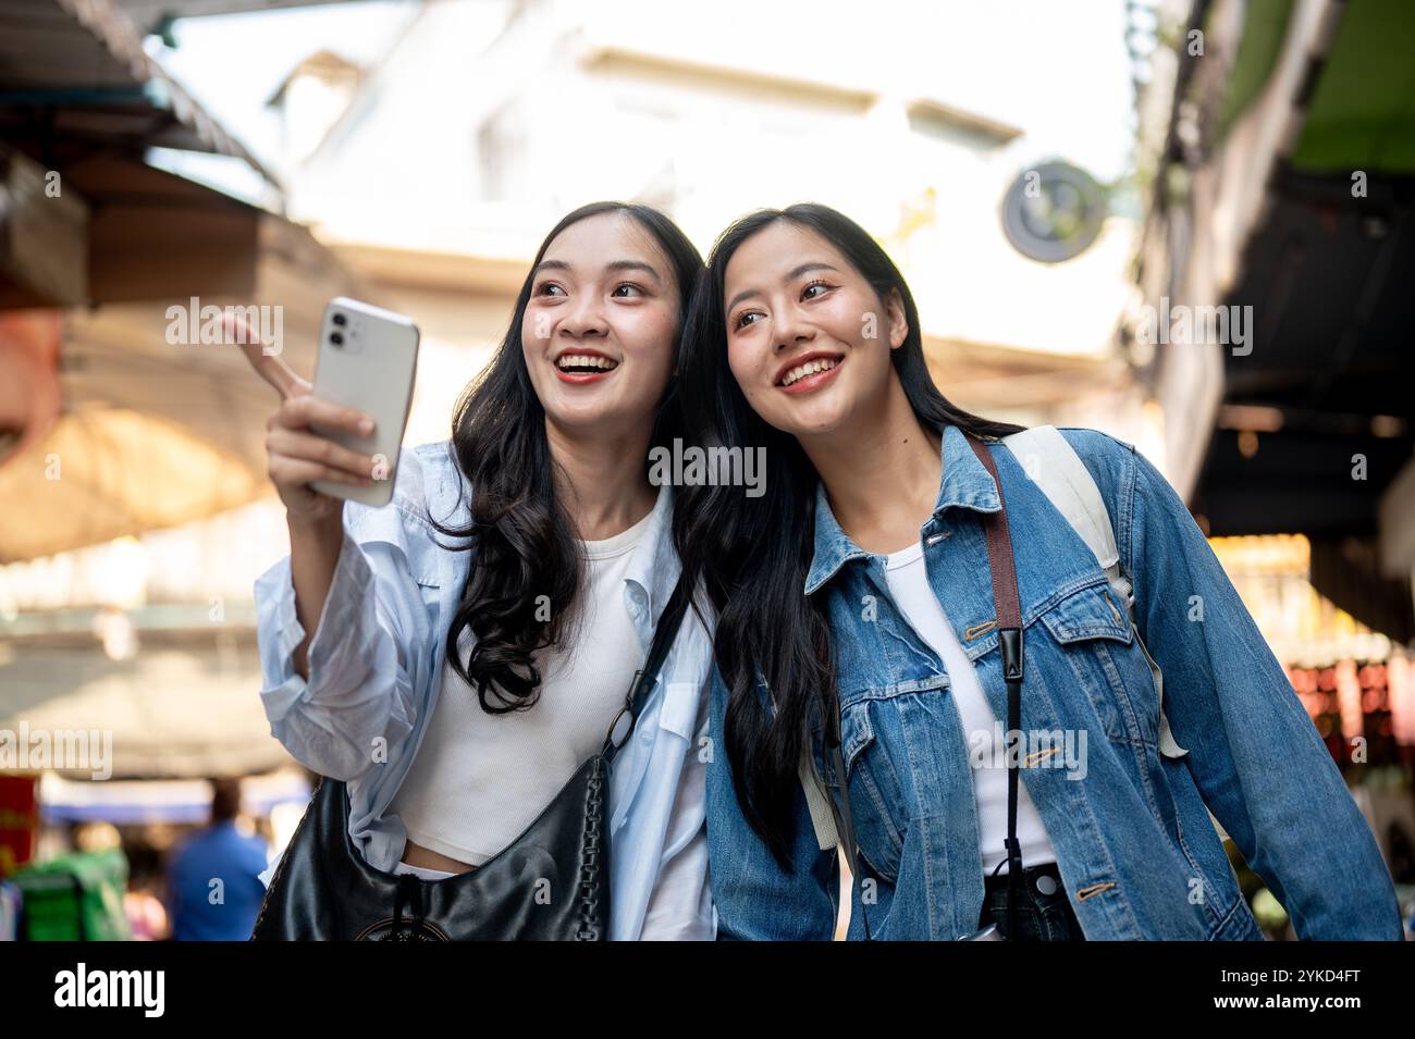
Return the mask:
<svg viewBox="0 0 1415 1039">
<path fill-rule="evenodd" d="M 290 556 L 256 582 L 262 698 L 291 755 L 347 783 L 381 871 L 439 881 L 521 834 L 624 705 L 679 577 L 649 447 L 679 430 L 675 366 L 702 269 L 662 213 L 606 202 L 546 236 L 451 440 L 374 459 L 366 433 L 273 358 L 269 472 Z M 689 612 L 608 780 L 610 939 L 713 934 L 703 833 L 710 640 Z M 396 933 L 396 932 L 395 932 Z"/>
</svg>

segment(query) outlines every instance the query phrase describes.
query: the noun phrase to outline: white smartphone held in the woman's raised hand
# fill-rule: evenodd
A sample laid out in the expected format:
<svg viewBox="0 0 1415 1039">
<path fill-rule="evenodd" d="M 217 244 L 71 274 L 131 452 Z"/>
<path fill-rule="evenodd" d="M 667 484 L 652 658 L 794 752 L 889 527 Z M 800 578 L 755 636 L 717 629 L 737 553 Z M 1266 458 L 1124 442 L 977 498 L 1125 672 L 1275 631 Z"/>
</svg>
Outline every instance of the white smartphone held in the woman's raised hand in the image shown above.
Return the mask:
<svg viewBox="0 0 1415 1039">
<path fill-rule="evenodd" d="M 320 321 L 320 351 L 314 362 L 314 396 L 362 411 L 374 420 L 366 437 L 310 423 L 310 430 L 359 454 L 372 455 L 371 486 L 316 481 L 324 495 L 362 505 L 393 500 L 398 452 L 417 372 L 417 325 L 402 314 L 337 295 Z"/>
</svg>

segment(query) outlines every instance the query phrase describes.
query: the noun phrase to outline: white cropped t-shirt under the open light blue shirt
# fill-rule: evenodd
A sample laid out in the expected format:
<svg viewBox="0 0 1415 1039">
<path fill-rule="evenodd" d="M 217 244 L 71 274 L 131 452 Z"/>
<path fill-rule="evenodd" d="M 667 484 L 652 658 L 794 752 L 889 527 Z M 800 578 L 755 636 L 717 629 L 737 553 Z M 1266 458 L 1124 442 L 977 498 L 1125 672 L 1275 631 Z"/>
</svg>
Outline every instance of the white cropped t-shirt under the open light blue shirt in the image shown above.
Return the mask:
<svg viewBox="0 0 1415 1039">
<path fill-rule="evenodd" d="M 624 574 L 652 516 L 607 540 L 579 543 L 586 560 L 579 618 L 567 647 L 535 654 L 541 691 L 531 710 L 488 714 L 475 688 L 443 666 L 427 734 L 391 806 L 409 840 L 481 865 L 515 841 L 604 745 L 644 663 L 624 605 Z M 463 654 L 471 638 L 461 632 Z M 433 874 L 450 875 L 420 875 L 436 879 Z"/>
</svg>

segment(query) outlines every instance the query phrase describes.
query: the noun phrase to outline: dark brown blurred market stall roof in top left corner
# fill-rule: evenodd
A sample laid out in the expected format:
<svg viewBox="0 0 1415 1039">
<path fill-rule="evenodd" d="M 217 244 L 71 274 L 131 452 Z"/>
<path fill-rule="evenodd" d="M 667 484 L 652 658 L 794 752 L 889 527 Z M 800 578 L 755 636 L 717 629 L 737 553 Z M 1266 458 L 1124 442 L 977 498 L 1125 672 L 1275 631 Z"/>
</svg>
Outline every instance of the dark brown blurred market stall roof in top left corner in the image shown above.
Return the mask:
<svg viewBox="0 0 1415 1039">
<path fill-rule="evenodd" d="M 0 307 L 253 290 L 262 211 L 150 148 L 226 155 L 277 189 L 109 0 L 0 0 Z"/>
</svg>

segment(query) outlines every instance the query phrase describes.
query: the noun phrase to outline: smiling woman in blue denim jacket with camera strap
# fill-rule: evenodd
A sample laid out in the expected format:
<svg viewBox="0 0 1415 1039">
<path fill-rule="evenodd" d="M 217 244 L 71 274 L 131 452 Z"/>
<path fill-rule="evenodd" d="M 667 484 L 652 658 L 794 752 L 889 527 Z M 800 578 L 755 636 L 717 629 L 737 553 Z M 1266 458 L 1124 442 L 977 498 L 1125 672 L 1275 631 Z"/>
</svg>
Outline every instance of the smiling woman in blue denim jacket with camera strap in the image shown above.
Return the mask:
<svg viewBox="0 0 1415 1039">
<path fill-rule="evenodd" d="M 766 445 L 768 469 L 764 495 L 689 489 L 678 517 L 719 611 L 720 937 L 832 936 L 839 859 L 812 826 L 812 770 L 853 817 L 850 937 L 1005 927 L 1006 697 L 983 533 L 1002 500 L 1026 647 L 1010 937 L 1261 939 L 1213 818 L 1300 937 L 1401 937 L 1370 828 L 1174 491 L 1129 444 L 1063 431 L 1111 516 L 1136 638 L 1095 554 L 999 442 L 1019 427 L 938 393 L 908 287 L 856 223 L 797 205 L 729 228 L 682 375 L 689 428 L 709 447 Z M 835 717 L 843 776 L 824 749 Z"/>
</svg>

